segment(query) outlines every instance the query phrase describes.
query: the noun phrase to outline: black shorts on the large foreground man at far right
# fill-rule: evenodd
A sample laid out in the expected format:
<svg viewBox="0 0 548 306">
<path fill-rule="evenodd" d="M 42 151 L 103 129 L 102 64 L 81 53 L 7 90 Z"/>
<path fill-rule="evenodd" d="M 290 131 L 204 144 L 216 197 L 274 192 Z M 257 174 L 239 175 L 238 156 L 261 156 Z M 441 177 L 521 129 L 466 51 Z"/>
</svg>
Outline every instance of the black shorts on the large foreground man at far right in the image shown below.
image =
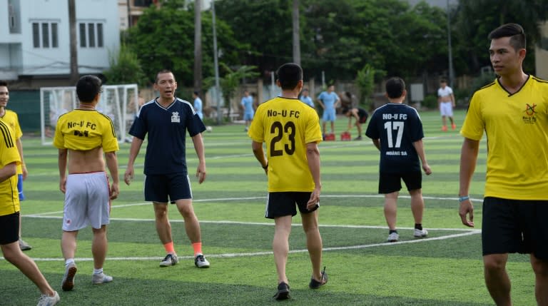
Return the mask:
<svg viewBox="0 0 548 306">
<path fill-rule="evenodd" d="M 548 260 L 548 200 L 483 200 L 482 253 L 533 253 Z"/>
</svg>

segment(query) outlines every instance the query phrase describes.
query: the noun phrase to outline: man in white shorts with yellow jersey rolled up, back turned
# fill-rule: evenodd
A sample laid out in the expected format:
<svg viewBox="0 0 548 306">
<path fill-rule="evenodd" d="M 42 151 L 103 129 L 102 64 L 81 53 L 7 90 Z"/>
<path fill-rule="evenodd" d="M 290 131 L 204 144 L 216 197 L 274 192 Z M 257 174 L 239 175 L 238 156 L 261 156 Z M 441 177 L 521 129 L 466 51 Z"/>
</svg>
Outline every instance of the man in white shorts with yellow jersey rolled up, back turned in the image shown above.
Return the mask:
<svg viewBox="0 0 548 306">
<path fill-rule="evenodd" d="M 118 197 L 118 140 L 111 118 L 96 111 L 101 95 L 101 80 L 83 76 L 76 84 L 80 105 L 57 121 L 54 146 L 59 148 L 59 188 L 65 194 L 61 250 L 65 259 L 64 291 L 72 290 L 76 275 L 76 236 L 91 225 L 93 230 L 93 284 L 111 282 L 103 273 L 110 223 L 111 200 Z M 111 173 L 108 185 L 106 167 Z M 67 175 L 68 168 L 68 175 Z"/>
</svg>

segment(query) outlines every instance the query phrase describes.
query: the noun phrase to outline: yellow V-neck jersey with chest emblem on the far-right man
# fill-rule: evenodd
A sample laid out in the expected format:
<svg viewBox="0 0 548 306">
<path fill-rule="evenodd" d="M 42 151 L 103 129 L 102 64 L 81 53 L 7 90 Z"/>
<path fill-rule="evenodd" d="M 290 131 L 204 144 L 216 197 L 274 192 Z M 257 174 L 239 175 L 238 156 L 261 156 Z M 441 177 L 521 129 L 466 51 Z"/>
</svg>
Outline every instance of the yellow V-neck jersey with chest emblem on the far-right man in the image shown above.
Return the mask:
<svg viewBox="0 0 548 306">
<path fill-rule="evenodd" d="M 485 196 L 548 199 L 548 82 L 529 76 L 509 94 L 495 80 L 476 91 L 460 133 L 487 135 Z"/>
</svg>

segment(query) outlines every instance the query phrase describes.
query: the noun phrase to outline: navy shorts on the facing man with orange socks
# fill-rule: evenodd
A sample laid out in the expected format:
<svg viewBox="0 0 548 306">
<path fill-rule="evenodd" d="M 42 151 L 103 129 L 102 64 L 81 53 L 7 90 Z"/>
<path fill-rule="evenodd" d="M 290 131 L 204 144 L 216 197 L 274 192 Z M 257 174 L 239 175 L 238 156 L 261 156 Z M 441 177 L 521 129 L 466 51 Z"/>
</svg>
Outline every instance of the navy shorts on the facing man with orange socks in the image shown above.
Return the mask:
<svg viewBox="0 0 548 306">
<path fill-rule="evenodd" d="M 175 203 L 191 199 L 191 181 L 186 173 L 170 173 L 145 176 L 145 200 L 157 203 Z"/>
</svg>

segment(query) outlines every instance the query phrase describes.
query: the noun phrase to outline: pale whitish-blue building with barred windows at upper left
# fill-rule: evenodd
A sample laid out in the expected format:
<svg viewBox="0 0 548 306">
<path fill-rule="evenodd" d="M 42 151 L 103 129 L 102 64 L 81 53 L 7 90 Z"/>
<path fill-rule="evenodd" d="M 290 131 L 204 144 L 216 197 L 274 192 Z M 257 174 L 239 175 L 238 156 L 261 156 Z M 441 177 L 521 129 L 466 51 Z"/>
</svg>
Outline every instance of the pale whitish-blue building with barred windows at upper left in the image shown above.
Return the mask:
<svg viewBox="0 0 548 306">
<path fill-rule="evenodd" d="M 78 73 L 102 73 L 120 46 L 116 0 L 75 0 Z M 0 79 L 68 78 L 68 0 L 0 0 Z"/>
</svg>

